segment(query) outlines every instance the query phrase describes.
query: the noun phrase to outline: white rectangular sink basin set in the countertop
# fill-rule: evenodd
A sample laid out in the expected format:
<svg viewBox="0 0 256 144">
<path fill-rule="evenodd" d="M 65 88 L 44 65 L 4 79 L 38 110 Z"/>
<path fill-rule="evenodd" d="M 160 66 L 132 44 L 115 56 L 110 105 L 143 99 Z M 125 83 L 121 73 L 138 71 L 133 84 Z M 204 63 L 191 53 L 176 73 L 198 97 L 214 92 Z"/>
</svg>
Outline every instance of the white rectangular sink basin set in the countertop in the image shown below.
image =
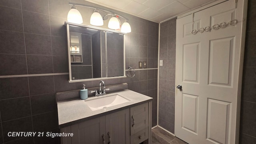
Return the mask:
<svg viewBox="0 0 256 144">
<path fill-rule="evenodd" d="M 118 104 L 123 104 L 125 102 L 130 102 L 130 100 L 120 96 L 119 94 L 114 94 L 111 96 L 104 96 L 102 98 L 96 98 L 93 100 L 85 100 L 85 102 L 87 106 L 89 106 L 89 108 L 94 111 L 110 106 L 115 106 Z"/>
</svg>

